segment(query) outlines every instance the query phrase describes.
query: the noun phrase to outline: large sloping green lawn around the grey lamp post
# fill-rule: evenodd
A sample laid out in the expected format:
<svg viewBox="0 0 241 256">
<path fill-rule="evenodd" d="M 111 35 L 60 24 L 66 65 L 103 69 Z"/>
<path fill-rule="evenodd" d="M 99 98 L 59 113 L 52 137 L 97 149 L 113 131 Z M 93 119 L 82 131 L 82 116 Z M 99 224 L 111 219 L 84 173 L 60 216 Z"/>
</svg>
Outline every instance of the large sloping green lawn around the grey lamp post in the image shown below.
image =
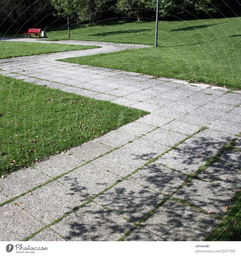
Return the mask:
<svg viewBox="0 0 241 256">
<path fill-rule="evenodd" d="M 240 17 L 160 21 L 158 47 L 126 50 L 67 61 L 241 89 Z M 67 39 L 65 27 L 47 31 Z M 155 22 L 109 22 L 72 26 L 72 40 L 154 45 Z"/>
</svg>

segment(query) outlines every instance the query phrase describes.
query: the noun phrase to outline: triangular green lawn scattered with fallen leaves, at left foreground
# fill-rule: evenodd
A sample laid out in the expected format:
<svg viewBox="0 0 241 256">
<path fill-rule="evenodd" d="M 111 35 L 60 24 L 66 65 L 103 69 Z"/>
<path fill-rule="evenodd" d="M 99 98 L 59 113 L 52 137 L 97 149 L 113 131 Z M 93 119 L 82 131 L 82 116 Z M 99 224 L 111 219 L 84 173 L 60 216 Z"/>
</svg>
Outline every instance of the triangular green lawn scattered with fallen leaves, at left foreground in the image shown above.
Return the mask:
<svg viewBox="0 0 241 256">
<path fill-rule="evenodd" d="M 0 174 L 78 146 L 145 114 L 0 75 Z"/>
</svg>

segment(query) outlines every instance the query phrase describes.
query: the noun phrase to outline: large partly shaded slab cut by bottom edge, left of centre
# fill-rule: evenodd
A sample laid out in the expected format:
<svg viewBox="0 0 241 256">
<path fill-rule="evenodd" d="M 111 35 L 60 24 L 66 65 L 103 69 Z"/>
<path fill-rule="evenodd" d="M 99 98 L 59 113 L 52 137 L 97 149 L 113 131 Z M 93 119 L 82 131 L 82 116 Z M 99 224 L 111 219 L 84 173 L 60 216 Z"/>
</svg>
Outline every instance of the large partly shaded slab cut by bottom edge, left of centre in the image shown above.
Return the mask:
<svg viewBox="0 0 241 256">
<path fill-rule="evenodd" d="M 132 224 L 92 202 L 51 227 L 67 241 L 116 241 Z"/>
</svg>

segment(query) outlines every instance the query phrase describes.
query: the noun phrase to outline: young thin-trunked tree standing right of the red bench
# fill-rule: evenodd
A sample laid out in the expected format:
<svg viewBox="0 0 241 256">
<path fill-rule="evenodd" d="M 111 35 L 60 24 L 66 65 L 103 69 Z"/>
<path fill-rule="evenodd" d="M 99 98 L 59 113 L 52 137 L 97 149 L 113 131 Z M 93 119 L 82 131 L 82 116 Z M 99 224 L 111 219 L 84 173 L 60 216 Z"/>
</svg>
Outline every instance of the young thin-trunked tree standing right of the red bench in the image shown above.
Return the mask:
<svg viewBox="0 0 241 256">
<path fill-rule="evenodd" d="M 69 19 L 79 8 L 80 0 L 50 0 L 52 6 L 58 11 L 57 16 L 67 15 L 68 37 L 70 37 Z"/>
</svg>

